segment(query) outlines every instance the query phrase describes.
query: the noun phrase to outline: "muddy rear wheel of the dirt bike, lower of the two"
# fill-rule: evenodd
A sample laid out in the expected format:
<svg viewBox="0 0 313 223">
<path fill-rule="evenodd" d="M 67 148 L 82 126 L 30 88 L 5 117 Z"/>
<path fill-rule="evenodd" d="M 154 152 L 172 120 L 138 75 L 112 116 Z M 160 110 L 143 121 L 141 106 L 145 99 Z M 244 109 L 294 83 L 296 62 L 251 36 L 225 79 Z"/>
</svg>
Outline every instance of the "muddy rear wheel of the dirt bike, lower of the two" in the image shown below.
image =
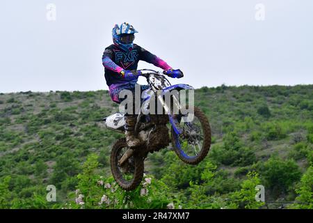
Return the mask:
<svg viewBox="0 0 313 223">
<path fill-rule="evenodd" d="M 118 160 L 127 151 L 126 139 L 118 139 L 111 151 L 111 171 L 115 181 L 123 190 L 135 190 L 143 179 L 144 157 L 134 153 L 120 166 Z"/>
</svg>

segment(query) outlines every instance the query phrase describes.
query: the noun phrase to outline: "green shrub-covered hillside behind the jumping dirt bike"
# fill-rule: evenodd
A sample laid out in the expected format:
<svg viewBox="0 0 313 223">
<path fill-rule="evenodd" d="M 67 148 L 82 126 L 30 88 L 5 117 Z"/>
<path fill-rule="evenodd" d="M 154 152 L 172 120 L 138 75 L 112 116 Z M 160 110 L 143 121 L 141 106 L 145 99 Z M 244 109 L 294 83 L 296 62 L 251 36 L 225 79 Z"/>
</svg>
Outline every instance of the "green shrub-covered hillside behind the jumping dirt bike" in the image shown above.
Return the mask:
<svg viewBox="0 0 313 223">
<path fill-rule="evenodd" d="M 112 206 L 93 200 L 114 185 L 109 155 L 123 137 L 100 121 L 118 111 L 108 92 L 1 93 L 0 208 L 79 208 L 77 189 L 86 208 L 312 208 L 313 85 L 203 87 L 195 104 L 211 123 L 208 157 L 188 166 L 170 148 L 150 154 L 149 194 L 120 191 Z M 265 203 L 253 201 L 257 184 Z"/>
</svg>

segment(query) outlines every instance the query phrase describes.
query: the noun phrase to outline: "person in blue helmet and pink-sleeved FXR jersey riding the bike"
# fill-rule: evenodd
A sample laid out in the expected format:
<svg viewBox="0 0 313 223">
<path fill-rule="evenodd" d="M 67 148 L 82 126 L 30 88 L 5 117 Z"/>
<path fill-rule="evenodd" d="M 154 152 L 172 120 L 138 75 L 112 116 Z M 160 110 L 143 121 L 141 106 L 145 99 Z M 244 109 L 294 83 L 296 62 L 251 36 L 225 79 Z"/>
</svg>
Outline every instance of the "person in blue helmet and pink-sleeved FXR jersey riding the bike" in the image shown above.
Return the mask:
<svg viewBox="0 0 313 223">
<path fill-rule="evenodd" d="M 126 22 L 120 25 L 115 24 L 112 30 L 113 44 L 106 47 L 102 56 L 104 77 L 113 102 L 120 103 L 122 101 L 118 95 L 123 89 L 134 91 L 140 72 L 131 70 L 137 70 L 140 60 L 166 70 L 166 75 L 169 77 L 180 78 L 183 76 L 180 70 L 173 70 L 165 61 L 134 44 L 134 33 L 138 33 L 138 31 Z M 147 85 L 141 85 L 142 91 L 147 88 Z M 141 144 L 140 139 L 134 135 L 136 117 L 137 115 L 134 113 L 125 114 L 125 137 L 129 147 Z"/>
</svg>

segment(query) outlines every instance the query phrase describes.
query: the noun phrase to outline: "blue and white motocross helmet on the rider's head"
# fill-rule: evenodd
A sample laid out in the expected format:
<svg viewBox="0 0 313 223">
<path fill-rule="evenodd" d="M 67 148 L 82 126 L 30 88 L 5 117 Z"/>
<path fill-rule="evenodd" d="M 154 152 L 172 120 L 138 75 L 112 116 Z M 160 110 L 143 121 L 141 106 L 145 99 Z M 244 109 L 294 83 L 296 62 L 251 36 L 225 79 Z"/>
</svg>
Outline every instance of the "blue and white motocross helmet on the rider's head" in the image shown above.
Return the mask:
<svg viewBox="0 0 313 223">
<path fill-rule="evenodd" d="M 124 22 L 115 24 L 112 30 L 113 43 L 125 51 L 129 51 L 134 47 L 134 33 L 138 33 L 133 26 Z"/>
</svg>

